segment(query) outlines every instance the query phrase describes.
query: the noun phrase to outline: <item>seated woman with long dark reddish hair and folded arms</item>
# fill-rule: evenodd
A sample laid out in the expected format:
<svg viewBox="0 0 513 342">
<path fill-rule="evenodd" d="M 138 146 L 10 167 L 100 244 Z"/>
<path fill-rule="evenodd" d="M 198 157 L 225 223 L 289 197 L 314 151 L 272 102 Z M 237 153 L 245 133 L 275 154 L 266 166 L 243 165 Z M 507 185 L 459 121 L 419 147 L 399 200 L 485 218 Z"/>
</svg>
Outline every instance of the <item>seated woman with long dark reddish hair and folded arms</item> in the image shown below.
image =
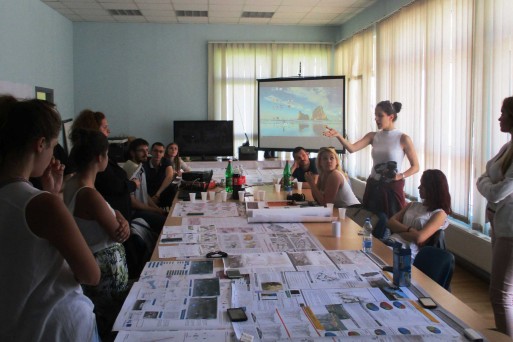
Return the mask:
<svg viewBox="0 0 513 342">
<path fill-rule="evenodd" d="M 440 170 L 426 170 L 419 185 L 422 202 L 410 202 L 388 220 L 392 235 L 389 240 L 411 249 L 412 260 L 439 229 L 449 225 L 447 215 L 451 214 L 451 194 L 447 178 Z"/>
</svg>

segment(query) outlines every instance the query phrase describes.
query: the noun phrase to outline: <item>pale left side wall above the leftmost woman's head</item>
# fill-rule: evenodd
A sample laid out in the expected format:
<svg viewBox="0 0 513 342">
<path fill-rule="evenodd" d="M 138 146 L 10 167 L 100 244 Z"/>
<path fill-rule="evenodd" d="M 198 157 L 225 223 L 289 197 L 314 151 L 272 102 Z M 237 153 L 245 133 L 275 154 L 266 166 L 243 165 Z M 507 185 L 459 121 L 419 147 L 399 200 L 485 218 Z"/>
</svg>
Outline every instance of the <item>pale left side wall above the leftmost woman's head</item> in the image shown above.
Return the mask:
<svg viewBox="0 0 513 342">
<path fill-rule="evenodd" d="M 0 1 L 0 80 L 51 88 L 74 115 L 73 25 L 39 0 Z"/>
</svg>

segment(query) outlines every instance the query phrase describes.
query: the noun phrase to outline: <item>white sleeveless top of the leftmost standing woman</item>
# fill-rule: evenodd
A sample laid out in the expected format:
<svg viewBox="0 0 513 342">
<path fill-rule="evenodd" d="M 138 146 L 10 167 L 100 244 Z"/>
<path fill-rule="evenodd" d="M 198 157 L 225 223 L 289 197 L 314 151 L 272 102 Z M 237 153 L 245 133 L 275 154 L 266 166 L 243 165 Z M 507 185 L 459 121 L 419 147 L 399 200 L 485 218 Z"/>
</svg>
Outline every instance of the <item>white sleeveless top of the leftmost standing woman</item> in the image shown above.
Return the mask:
<svg viewBox="0 0 513 342">
<path fill-rule="evenodd" d="M 93 304 L 59 251 L 27 225 L 25 209 L 41 193 L 26 182 L 0 188 L 0 341 L 90 341 Z"/>
</svg>

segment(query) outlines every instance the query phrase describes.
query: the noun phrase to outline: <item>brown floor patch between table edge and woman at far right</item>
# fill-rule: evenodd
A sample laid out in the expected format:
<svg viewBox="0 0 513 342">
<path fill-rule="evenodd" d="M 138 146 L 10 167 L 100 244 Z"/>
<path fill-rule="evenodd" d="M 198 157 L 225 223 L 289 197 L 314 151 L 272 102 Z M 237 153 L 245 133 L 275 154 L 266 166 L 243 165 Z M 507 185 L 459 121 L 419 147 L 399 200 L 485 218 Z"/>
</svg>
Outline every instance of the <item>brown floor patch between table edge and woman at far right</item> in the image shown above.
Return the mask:
<svg viewBox="0 0 513 342">
<path fill-rule="evenodd" d="M 457 264 L 451 281 L 451 293 L 486 319 L 490 328 L 494 328 L 488 285 L 488 281 Z"/>
</svg>

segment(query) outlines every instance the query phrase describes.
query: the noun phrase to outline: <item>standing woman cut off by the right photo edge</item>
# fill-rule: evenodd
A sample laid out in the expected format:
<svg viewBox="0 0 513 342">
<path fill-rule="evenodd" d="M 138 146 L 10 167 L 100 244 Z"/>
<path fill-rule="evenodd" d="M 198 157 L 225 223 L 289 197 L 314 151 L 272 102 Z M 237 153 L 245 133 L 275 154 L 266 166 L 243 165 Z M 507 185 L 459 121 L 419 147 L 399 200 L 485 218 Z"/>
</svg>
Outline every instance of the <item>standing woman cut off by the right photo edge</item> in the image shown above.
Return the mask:
<svg viewBox="0 0 513 342">
<path fill-rule="evenodd" d="M 513 97 L 504 99 L 501 132 L 513 134 Z M 492 231 L 490 300 L 500 332 L 513 336 L 513 146 L 511 140 L 486 164 L 477 190 L 488 200 Z"/>
</svg>

